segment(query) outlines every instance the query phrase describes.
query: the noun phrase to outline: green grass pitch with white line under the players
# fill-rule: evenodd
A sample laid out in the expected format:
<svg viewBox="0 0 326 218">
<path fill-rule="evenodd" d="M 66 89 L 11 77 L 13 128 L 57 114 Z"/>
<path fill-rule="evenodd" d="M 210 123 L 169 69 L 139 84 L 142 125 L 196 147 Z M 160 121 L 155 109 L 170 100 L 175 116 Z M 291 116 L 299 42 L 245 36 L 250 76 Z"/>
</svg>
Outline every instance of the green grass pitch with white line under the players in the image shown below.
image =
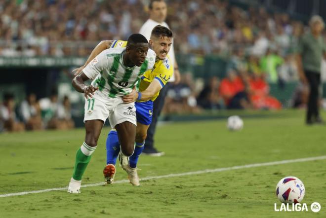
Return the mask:
<svg viewBox="0 0 326 218">
<path fill-rule="evenodd" d="M 245 115 L 245 114 L 244 114 Z M 324 114 L 324 117 L 326 114 Z M 307 127 L 303 111 L 244 116 L 244 129 L 229 132 L 226 119 L 166 124 L 156 145 L 163 157 L 140 157 L 140 178 L 326 155 L 326 127 Z M 82 184 L 103 181 L 104 128 Z M 68 185 L 84 130 L 0 135 L 0 195 Z M 326 217 L 326 160 L 262 166 L 199 175 L 0 198 L 0 217 Z M 275 186 L 285 176 L 304 182 L 309 212 L 275 212 Z M 116 181 L 126 174 L 117 167 Z M 310 210 L 319 202 L 319 213 Z"/>
</svg>

